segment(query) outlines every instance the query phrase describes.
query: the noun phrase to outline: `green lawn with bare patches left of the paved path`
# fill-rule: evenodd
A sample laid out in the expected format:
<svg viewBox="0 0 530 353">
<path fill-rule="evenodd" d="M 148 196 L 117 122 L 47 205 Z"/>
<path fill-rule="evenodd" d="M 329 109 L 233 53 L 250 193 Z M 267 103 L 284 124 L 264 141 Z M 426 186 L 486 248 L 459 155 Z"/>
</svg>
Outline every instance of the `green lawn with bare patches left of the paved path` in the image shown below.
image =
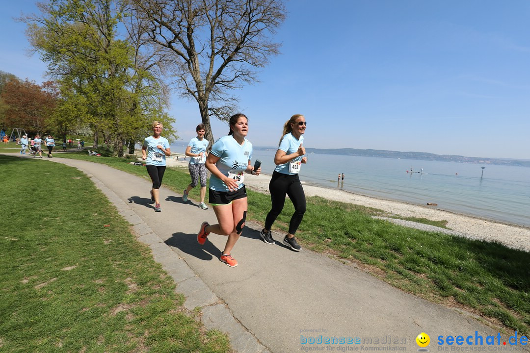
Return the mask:
<svg viewBox="0 0 530 353">
<path fill-rule="evenodd" d="M 0 166 L 0 351 L 231 351 L 86 175 L 43 159 Z"/>
</svg>

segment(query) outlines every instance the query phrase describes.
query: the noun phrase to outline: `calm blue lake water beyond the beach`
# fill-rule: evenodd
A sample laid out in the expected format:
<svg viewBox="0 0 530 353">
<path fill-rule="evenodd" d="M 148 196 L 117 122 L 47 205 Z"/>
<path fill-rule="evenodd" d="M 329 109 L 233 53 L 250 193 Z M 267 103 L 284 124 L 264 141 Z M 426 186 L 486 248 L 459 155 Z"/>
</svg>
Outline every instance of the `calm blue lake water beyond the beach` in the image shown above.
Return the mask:
<svg viewBox="0 0 530 353">
<path fill-rule="evenodd" d="M 265 174 L 275 168 L 274 153 L 253 152 Z M 305 182 L 415 204 L 437 203 L 438 209 L 530 226 L 527 167 L 317 154 L 307 159 L 300 173 Z M 423 168 L 423 173 L 406 173 L 411 168 Z M 345 174 L 343 183 L 337 183 L 339 173 Z"/>
</svg>

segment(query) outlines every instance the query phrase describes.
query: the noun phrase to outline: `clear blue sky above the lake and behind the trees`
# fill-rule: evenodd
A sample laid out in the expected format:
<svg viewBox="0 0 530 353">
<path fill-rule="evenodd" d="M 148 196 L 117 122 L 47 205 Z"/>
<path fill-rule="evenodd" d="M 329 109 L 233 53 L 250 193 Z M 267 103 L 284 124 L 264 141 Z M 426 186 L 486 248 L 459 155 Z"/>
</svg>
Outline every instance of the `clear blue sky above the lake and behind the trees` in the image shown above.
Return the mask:
<svg viewBox="0 0 530 353">
<path fill-rule="evenodd" d="M 325 5 L 323 5 L 325 4 Z M 249 140 L 275 146 L 293 114 L 305 147 L 371 148 L 530 159 L 530 2 L 526 0 L 292 0 L 276 40 L 281 55 L 259 83 L 235 92 Z M 1 5 L 0 70 L 42 82 L 28 58 L 34 2 Z M 176 95 L 182 143 L 200 122 Z M 216 138 L 227 133 L 213 122 Z"/>
</svg>

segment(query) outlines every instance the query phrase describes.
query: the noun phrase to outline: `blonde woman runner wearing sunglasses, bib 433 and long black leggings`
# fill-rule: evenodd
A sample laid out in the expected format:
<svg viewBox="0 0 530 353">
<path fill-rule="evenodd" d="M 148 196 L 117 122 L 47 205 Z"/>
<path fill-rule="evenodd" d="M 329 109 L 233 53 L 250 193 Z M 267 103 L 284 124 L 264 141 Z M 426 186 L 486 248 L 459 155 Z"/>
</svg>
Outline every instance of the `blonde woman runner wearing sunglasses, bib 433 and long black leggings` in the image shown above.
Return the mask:
<svg viewBox="0 0 530 353">
<path fill-rule="evenodd" d="M 305 148 L 303 147 L 305 128 L 307 122 L 304 115 L 295 114 L 291 116 L 285 125 L 278 150 L 274 156 L 276 169 L 272 173 L 269 183 L 269 191 L 272 208 L 265 219 L 265 228 L 261 230 L 261 238 L 268 244 L 274 244 L 271 227 L 281 210 L 284 209 L 285 195 L 289 195 L 295 206 L 295 213 L 289 222 L 289 231 L 283 243 L 293 249 L 300 251 L 302 248 L 295 239 L 298 226 L 304 218 L 306 209 L 305 193 L 302 183 L 298 178 L 302 163 L 307 162 Z"/>
</svg>

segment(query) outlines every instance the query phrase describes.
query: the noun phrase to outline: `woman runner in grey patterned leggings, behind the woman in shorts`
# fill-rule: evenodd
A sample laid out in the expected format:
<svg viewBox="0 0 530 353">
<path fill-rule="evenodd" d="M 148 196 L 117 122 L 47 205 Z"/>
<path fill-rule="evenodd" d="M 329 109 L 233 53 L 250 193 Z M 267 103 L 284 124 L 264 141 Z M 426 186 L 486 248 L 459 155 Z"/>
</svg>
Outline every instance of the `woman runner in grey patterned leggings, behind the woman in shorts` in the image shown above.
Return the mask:
<svg viewBox="0 0 530 353">
<path fill-rule="evenodd" d="M 208 140 L 204 138 L 206 130 L 203 124 L 197 125 L 196 128 L 197 137 L 191 139 L 186 147 L 185 155 L 191 157 L 188 164 L 190 171 L 191 184 L 182 193 L 182 201 L 188 202 L 188 194 L 191 189 L 196 187 L 200 177 L 200 203 L 199 207 L 203 210 L 208 210 L 208 206 L 204 203 L 204 197 L 206 196 L 206 178 L 208 177 L 208 171 L 205 166 L 206 162 L 206 149 L 208 148 Z"/>
</svg>

